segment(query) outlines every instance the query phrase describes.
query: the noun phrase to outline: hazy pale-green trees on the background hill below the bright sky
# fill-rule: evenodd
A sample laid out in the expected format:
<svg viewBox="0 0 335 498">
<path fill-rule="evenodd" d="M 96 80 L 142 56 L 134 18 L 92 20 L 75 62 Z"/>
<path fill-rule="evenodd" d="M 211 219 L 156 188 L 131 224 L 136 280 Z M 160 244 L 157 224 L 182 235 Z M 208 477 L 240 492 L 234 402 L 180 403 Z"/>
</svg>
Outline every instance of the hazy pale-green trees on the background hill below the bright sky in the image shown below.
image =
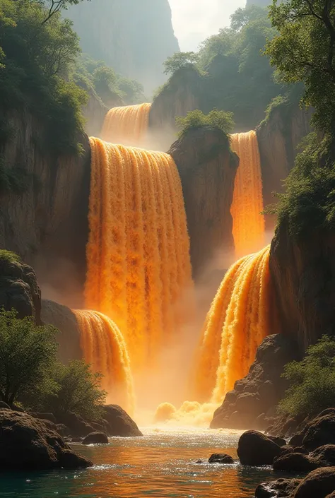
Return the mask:
<svg viewBox="0 0 335 498">
<path fill-rule="evenodd" d="M 276 33 L 266 8 L 238 8 L 231 16 L 230 28 L 208 37 L 198 53 L 167 59 L 165 72 L 173 77 L 185 67 L 198 69 L 201 85 L 195 97 L 199 109 L 205 114 L 213 108 L 233 112 L 239 131 L 254 129 L 269 102 L 287 91 L 285 85 L 274 81 L 274 69 L 262 55 L 266 40 Z M 181 80 L 183 76 L 180 72 Z"/>
</svg>

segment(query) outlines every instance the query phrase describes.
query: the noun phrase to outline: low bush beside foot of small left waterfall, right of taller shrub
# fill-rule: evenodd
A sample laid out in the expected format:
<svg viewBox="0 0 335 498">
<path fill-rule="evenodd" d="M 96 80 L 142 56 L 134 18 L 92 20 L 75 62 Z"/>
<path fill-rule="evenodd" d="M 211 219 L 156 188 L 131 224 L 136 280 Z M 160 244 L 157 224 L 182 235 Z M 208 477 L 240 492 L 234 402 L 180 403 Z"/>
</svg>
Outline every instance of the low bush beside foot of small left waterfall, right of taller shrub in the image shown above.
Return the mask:
<svg viewBox="0 0 335 498">
<path fill-rule="evenodd" d="M 55 414 L 71 411 L 86 420 L 99 419 L 106 398 L 101 390 L 101 374 L 94 374 L 85 362 L 74 360 L 68 365 L 56 362 L 51 375 L 57 392 L 40 398 L 40 409 Z"/>
</svg>

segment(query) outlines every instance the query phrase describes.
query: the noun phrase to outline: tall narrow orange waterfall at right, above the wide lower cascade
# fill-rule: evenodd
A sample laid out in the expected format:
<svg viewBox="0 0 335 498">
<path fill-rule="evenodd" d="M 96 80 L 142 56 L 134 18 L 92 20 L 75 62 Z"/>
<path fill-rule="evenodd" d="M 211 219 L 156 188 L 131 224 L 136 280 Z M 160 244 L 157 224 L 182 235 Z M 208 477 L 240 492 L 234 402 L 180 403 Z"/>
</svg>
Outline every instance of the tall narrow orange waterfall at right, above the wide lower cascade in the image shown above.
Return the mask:
<svg viewBox="0 0 335 498">
<path fill-rule="evenodd" d="M 231 148 L 240 158 L 237 168 L 233 204 L 233 237 L 237 258 L 264 247 L 263 192 L 261 161 L 255 131 L 231 136 Z"/>
</svg>

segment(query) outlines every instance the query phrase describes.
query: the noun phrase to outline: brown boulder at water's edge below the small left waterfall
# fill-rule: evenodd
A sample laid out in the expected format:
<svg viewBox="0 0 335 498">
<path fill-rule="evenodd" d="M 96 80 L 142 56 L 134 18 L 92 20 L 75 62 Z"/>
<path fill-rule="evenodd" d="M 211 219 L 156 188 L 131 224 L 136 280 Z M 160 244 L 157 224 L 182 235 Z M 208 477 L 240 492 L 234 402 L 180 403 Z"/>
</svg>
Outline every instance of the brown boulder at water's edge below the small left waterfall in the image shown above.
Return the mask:
<svg viewBox="0 0 335 498">
<path fill-rule="evenodd" d="M 134 420 L 119 405 L 106 405 L 104 411 L 109 436 L 143 436 Z"/>
</svg>

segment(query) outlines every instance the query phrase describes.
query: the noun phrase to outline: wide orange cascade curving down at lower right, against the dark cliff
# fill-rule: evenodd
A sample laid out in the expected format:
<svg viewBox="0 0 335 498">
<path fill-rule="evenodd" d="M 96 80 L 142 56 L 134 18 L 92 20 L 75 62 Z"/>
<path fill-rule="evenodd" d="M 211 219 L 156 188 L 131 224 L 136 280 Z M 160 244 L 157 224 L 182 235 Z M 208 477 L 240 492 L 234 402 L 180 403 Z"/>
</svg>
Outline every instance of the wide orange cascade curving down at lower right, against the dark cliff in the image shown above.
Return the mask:
<svg viewBox="0 0 335 498">
<path fill-rule="evenodd" d="M 235 381 L 247 374 L 264 337 L 276 333 L 269 254 L 267 246 L 243 257 L 223 278 L 197 352 L 192 383 L 199 401 L 222 402 Z"/>
</svg>

